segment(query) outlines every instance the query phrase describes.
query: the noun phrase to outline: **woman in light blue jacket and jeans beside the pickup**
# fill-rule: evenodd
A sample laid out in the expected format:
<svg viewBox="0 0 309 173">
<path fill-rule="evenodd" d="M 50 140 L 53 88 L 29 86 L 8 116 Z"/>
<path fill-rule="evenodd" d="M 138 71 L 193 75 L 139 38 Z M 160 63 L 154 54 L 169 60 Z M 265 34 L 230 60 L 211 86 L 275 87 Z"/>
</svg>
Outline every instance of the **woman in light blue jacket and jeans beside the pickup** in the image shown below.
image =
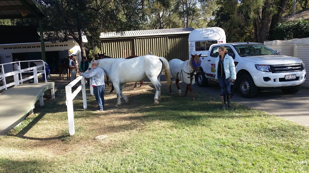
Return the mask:
<svg viewBox="0 0 309 173">
<path fill-rule="evenodd" d="M 224 94 L 227 95 L 227 106 L 231 107 L 231 82 L 236 79 L 236 70 L 233 58 L 227 54 L 226 47 L 220 46 L 219 56 L 215 60 L 216 79 L 219 81 L 222 108 L 225 109 Z"/>
</svg>

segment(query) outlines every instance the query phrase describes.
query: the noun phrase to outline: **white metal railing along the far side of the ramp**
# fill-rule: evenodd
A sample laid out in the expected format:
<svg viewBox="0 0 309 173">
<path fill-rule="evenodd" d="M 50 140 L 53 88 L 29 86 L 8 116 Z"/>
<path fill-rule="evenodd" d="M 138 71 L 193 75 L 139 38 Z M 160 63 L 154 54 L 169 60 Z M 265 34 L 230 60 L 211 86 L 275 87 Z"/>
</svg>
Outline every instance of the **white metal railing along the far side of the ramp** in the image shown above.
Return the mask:
<svg viewBox="0 0 309 173">
<path fill-rule="evenodd" d="M 38 66 L 34 66 L 34 67 L 30 67 L 30 68 L 25 68 L 25 69 L 20 69 L 18 71 L 12 71 L 12 72 L 8 72 L 5 73 L 3 66 L 7 65 L 7 64 L 14 64 L 14 63 L 18 63 L 19 68 L 20 66 L 20 62 L 33 62 L 33 61 L 41 61 L 43 62 L 42 65 L 38 65 Z M 43 67 L 42 70 L 38 70 L 38 68 Z M 1 74 L 0 74 L 0 81 L 3 81 L 3 86 L 0 86 L 0 90 L 2 89 L 6 89 L 10 86 L 17 86 L 19 85 L 19 83 L 23 83 L 24 81 L 27 81 L 29 79 L 34 79 L 34 83 L 38 83 L 38 76 L 40 76 L 41 74 L 45 75 L 45 82 L 47 82 L 47 78 L 46 78 L 46 73 L 45 73 L 45 63 L 43 60 L 30 60 L 30 61 L 16 61 L 16 62 L 9 62 L 9 63 L 4 63 L 4 64 L 0 64 L 0 68 L 1 68 Z M 44 70 L 43 70 L 44 69 Z M 32 76 L 29 76 L 27 78 L 22 78 L 22 74 L 23 73 L 33 73 Z M 19 75 L 20 75 L 20 80 L 19 80 Z M 9 76 L 13 76 L 14 78 L 14 82 L 11 83 L 6 83 L 6 77 Z"/>
</svg>

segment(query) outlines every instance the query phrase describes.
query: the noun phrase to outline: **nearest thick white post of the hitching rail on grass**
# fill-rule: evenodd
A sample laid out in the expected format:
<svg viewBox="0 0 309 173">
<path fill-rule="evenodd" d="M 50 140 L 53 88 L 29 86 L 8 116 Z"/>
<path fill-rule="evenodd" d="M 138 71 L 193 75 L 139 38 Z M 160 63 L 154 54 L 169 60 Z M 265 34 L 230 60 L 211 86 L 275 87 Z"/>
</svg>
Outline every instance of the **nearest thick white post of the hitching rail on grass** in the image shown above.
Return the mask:
<svg viewBox="0 0 309 173">
<path fill-rule="evenodd" d="M 71 86 L 66 86 L 66 107 L 68 111 L 69 133 L 70 136 L 75 134 L 74 127 L 74 112 L 73 112 L 73 98 Z"/>
</svg>

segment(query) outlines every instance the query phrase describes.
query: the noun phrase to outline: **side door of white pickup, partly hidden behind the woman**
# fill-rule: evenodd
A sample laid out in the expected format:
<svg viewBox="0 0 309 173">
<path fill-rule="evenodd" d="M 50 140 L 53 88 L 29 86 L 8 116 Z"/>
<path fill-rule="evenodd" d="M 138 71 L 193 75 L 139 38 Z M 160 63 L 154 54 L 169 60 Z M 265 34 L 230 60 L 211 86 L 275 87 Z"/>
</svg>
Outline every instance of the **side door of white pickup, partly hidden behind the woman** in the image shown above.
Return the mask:
<svg viewBox="0 0 309 173">
<path fill-rule="evenodd" d="M 222 45 L 220 45 L 222 46 Z M 216 78 L 216 64 L 215 59 L 219 56 L 218 50 L 220 46 L 214 46 L 210 50 L 210 54 L 207 57 L 207 68 L 206 75 L 211 78 Z M 227 54 L 230 55 L 233 59 L 235 59 L 235 52 L 230 46 L 225 46 L 227 50 Z"/>
</svg>

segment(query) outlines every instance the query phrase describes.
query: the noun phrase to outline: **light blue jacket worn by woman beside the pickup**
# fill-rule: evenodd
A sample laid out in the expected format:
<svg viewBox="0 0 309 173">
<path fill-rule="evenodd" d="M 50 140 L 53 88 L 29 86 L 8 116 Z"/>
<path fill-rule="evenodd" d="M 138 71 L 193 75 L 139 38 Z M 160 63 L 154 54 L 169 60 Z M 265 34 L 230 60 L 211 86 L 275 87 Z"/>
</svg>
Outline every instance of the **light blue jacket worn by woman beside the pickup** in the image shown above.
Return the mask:
<svg viewBox="0 0 309 173">
<path fill-rule="evenodd" d="M 216 58 L 215 64 L 216 64 L 216 79 L 218 79 L 218 64 L 219 64 L 219 57 L 220 55 Z M 224 73 L 225 73 L 225 78 L 231 78 L 231 79 L 236 79 L 236 70 L 235 70 L 235 64 L 233 58 L 226 54 L 225 57 L 223 58 L 223 68 L 224 68 Z"/>
</svg>

